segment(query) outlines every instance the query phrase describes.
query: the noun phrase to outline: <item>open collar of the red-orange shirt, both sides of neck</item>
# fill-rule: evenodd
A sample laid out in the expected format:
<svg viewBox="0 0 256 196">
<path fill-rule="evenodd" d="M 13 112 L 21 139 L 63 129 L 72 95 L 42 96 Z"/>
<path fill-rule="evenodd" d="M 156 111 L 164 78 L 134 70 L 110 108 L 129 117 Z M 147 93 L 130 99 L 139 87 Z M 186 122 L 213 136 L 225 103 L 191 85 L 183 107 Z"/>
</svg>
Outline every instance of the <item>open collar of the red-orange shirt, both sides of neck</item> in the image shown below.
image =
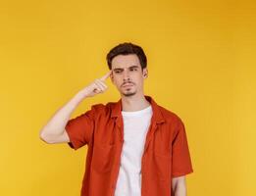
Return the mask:
<svg viewBox="0 0 256 196">
<path fill-rule="evenodd" d="M 151 104 L 153 116 L 152 116 L 152 123 L 164 123 L 165 119 L 163 114 L 160 111 L 160 106 L 155 102 L 155 100 L 148 95 L 144 95 L 146 100 Z M 112 105 L 112 112 L 111 118 L 118 118 L 121 119 L 122 117 L 122 99 Z"/>
</svg>

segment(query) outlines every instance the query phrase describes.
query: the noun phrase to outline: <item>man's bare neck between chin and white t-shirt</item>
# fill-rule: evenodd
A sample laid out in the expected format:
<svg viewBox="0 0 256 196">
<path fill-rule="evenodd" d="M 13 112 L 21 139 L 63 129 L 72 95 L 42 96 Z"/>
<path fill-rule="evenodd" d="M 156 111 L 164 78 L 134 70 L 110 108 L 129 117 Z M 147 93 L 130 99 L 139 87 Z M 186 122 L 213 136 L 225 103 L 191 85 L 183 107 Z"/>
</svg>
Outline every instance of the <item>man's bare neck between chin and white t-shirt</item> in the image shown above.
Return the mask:
<svg viewBox="0 0 256 196">
<path fill-rule="evenodd" d="M 143 94 L 131 97 L 122 97 L 122 110 L 125 112 L 139 111 L 150 106 Z"/>
</svg>

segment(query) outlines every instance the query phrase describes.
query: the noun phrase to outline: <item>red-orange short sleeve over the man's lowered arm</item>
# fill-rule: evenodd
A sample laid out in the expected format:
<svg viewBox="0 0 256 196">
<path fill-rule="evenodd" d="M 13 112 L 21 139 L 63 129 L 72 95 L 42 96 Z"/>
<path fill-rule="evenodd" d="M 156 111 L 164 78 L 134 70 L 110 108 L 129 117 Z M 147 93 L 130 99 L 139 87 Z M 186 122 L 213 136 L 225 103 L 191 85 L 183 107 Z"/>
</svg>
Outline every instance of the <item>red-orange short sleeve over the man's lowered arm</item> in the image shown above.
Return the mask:
<svg viewBox="0 0 256 196">
<path fill-rule="evenodd" d="M 193 172 L 185 127 L 180 119 L 172 145 L 172 177 L 178 177 Z"/>
</svg>

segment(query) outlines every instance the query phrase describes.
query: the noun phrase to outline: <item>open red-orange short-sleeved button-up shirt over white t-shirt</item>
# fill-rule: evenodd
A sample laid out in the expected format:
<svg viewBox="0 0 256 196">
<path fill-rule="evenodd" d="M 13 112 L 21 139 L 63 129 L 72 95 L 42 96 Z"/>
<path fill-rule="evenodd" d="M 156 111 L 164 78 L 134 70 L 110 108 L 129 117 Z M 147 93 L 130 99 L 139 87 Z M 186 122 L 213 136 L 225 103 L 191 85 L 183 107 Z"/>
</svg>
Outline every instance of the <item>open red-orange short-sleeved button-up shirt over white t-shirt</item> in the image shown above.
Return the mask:
<svg viewBox="0 0 256 196">
<path fill-rule="evenodd" d="M 193 172 L 184 124 L 145 95 L 153 110 L 141 158 L 141 196 L 172 195 L 172 178 Z M 88 145 L 81 196 L 114 196 L 124 143 L 122 100 L 96 104 L 66 125 L 71 148 Z"/>
</svg>

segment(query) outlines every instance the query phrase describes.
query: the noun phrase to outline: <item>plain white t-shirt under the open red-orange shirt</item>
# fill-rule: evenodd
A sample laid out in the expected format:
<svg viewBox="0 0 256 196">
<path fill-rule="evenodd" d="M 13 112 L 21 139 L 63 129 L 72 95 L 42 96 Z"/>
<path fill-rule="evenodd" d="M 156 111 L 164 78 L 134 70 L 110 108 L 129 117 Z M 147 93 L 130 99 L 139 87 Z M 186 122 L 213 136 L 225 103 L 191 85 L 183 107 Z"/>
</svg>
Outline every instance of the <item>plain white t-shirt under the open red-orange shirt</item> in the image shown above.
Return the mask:
<svg viewBox="0 0 256 196">
<path fill-rule="evenodd" d="M 141 195 L 141 157 L 146 134 L 151 122 L 152 107 L 134 111 L 122 111 L 124 120 L 124 144 L 115 196 Z"/>
</svg>

